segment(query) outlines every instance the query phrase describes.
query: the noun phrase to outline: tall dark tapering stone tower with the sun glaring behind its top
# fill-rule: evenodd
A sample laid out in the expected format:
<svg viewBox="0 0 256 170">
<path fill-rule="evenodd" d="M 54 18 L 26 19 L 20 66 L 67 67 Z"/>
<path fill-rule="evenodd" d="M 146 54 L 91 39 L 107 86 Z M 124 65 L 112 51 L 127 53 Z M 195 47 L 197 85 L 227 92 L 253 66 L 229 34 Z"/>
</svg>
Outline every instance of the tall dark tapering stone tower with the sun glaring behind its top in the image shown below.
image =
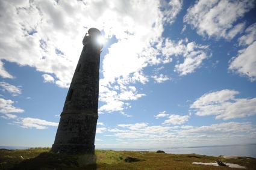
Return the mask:
<svg viewBox="0 0 256 170">
<path fill-rule="evenodd" d="M 90 28 L 67 93 L 52 151 L 94 154 L 98 120 L 101 32 Z"/>
</svg>

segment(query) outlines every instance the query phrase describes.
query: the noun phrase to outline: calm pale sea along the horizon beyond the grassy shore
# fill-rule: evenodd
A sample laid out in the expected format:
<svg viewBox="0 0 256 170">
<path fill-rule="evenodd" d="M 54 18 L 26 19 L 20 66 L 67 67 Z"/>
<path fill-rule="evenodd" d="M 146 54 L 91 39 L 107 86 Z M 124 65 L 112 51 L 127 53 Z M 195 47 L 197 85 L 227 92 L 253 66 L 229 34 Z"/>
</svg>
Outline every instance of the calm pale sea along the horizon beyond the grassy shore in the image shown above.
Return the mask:
<svg viewBox="0 0 256 170">
<path fill-rule="evenodd" d="M 0 146 L 0 148 L 8 150 L 23 150 L 31 147 L 7 147 Z M 205 147 L 178 147 L 178 148 L 148 148 L 148 149 L 133 149 L 133 148 L 96 148 L 104 150 L 116 151 L 157 151 L 163 150 L 165 153 L 173 154 L 202 154 L 207 156 L 246 156 L 256 158 L 256 144 L 246 145 L 222 145 L 222 146 L 205 146 Z"/>
</svg>

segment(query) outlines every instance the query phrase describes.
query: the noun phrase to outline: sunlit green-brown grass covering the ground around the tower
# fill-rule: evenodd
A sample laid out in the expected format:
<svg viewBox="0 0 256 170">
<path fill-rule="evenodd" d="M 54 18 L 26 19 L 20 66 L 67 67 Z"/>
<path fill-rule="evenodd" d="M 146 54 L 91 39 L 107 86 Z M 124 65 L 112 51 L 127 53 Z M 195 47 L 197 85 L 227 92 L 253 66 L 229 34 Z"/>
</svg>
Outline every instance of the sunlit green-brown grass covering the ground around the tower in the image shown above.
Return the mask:
<svg viewBox="0 0 256 170">
<path fill-rule="evenodd" d="M 193 165 L 192 162 L 236 163 L 247 169 L 256 169 L 256 159 L 240 157 L 203 156 L 198 154 L 164 154 L 139 151 L 96 150 L 96 165 L 84 167 L 82 155 L 55 154 L 50 148 L 27 150 L 0 150 L 0 169 L 231 169 L 219 166 Z M 22 157 L 20 157 L 22 156 Z M 136 157 L 139 162 L 126 163 L 126 157 Z M 83 167 L 81 167 L 83 166 Z"/>
</svg>

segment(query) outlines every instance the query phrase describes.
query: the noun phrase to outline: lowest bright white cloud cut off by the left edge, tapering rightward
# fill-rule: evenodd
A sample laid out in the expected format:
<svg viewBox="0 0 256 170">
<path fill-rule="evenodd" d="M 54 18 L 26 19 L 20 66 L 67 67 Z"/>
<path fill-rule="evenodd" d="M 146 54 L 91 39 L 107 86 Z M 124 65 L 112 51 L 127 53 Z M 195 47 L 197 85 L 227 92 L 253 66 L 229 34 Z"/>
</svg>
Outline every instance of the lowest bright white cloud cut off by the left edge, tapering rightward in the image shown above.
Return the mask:
<svg viewBox="0 0 256 170">
<path fill-rule="evenodd" d="M 2 114 L 9 114 L 9 113 L 22 113 L 24 112 L 23 109 L 16 108 L 13 106 L 13 101 L 12 100 L 5 100 L 5 99 L 0 99 L 0 113 Z"/>
</svg>

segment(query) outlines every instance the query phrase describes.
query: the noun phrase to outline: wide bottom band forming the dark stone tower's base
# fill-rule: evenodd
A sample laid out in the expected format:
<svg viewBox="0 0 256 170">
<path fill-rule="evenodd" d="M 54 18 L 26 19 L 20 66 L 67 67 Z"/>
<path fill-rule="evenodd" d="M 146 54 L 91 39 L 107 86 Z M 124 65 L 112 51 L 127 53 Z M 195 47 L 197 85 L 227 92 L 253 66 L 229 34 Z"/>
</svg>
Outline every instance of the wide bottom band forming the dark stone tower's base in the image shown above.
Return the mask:
<svg viewBox="0 0 256 170">
<path fill-rule="evenodd" d="M 51 151 L 55 153 L 94 154 L 95 145 L 53 144 Z"/>
</svg>

